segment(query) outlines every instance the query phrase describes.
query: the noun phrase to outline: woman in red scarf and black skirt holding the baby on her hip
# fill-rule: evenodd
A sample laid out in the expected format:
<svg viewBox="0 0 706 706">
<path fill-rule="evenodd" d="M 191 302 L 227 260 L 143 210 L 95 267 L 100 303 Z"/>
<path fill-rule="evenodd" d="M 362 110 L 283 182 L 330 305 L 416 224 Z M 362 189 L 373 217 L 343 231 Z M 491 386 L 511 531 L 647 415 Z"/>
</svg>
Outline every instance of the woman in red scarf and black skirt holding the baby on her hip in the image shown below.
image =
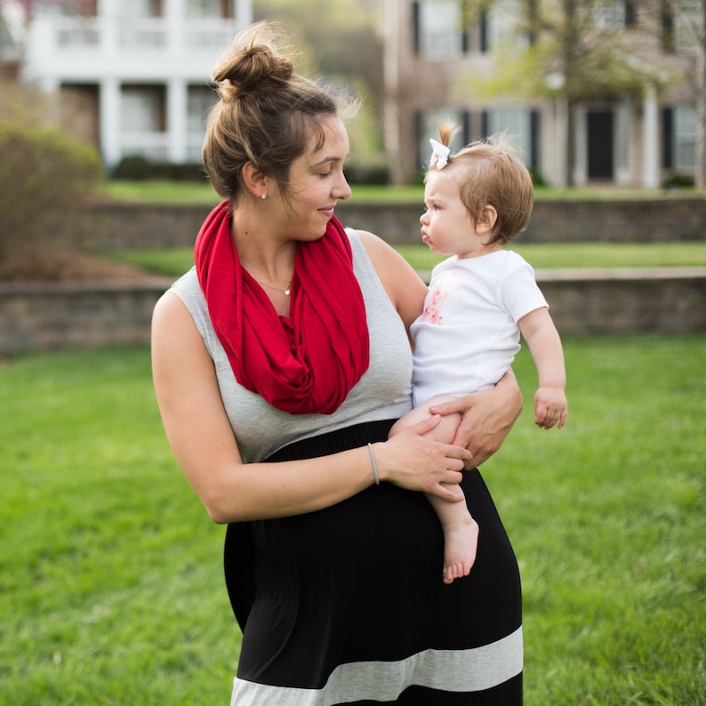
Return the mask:
<svg viewBox="0 0 706 706">
<path fill-rule="evenodd" d="M 386 440 L 411 408 L 408 327 L 426 287 L 336 221 L 350 195 L 341 107 L 293 74 L 270 29 L 247 30 L 215 70 L 204 163 L 224 201 L 153 322 L 167 437 L 229 524 L 244 633 L 232 703 L 519 703 L 517 562 L 477 470 L 461 472 L 500 446 L 517 384 Z M 456 412 L 458 445 L 423 437 Z M 471 575 L 445 586 L 419 491 L 457 501 L 459 483 L 481 539 Z"/>
</svg>

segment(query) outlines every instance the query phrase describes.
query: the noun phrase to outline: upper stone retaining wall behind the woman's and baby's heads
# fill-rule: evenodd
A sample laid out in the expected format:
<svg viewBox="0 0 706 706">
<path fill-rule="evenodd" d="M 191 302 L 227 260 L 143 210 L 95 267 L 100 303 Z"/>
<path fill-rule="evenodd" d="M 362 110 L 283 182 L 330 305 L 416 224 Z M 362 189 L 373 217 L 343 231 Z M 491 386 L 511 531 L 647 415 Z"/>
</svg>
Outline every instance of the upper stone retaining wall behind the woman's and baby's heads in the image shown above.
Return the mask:
<svg viewBox="0 0 706 706">
<path fill-rule="evenodd" d="M 98 250 L 191 246 L 208 206 L 96 204 L 85 213 L 88 245 Z M 421 204 L 336 206 L 343 225 L 370 230 L 393 244 L 419 243 Z M 519 241 L 649 243 L 703 240 L 706 198 L 654 201 L 537 201 Z"/>
</svg>

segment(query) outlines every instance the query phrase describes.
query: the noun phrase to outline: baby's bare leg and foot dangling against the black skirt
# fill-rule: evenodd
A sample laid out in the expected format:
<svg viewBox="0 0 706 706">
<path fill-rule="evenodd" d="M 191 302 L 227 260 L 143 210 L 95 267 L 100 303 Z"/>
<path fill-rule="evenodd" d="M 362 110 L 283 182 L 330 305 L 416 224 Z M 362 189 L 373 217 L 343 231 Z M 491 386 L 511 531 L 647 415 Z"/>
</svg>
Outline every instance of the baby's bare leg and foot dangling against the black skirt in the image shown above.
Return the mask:
<svg viewBox="0 0 706 706">
<path fill-rule="evenodd" d="M 440 405 L 453 399 L 451 395 L 434 397 L 423 405 L 415 407 L 412 412 L 395 422 L 389 430 L 389 436 L 394 437 L 402 429 L 416 424 L 429 417 L 429 407 Z M 451 444 L 456 434 L 461 414 L 446 414 L 439 421 L 438 426 L 429 431 L 426 437 L 439 441 L 442 444 Z M 478 543 L 478 525 L 470 516 L 465 501 L 448 502 L 437 495 L 427 493 L 431 507 L 437 513 L 444 530 L 444 582 L 452 583 L 453 579 L 460 579 L 470 573 L 470 568 L 476 560 Z"/>
</svg>

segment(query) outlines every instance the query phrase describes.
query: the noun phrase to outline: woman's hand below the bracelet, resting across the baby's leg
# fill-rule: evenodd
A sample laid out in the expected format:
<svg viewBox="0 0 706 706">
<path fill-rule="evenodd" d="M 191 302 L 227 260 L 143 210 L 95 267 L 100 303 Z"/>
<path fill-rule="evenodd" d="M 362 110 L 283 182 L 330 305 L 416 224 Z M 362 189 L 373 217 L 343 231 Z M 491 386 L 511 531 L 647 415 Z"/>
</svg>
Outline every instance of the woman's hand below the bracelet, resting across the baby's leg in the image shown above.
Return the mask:
<svg viewBox="0 0 706 706">
<path fill-rule="evenodd" d="M 404 429 L 388 441 L 373 445 L 381 480 L 406 490 L 432 493 L 445 501 L 461 501 L 458 486 L 463 470 L 472 467 L 471 454 L 461 446 L 423 438 L 441 421 L 440 415 Z"/>
</svg>

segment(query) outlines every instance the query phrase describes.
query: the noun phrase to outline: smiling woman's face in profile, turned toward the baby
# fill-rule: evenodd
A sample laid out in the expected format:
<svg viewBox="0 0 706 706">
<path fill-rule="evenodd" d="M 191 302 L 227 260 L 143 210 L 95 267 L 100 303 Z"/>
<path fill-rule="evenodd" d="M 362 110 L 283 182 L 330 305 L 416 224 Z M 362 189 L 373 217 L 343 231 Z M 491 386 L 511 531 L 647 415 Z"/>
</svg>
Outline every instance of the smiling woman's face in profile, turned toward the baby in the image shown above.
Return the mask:
<svg viewBox="0 0 706 706">
<path fill-rule="evenodd" d="M 336 117 L 325 118 L 321 127 L 324 144 L 317 149 L 312 135 L 309 150 L 290 167 L 288 198 L 279 198 L 283 229 L 293 240 L 322 237 L 336 202 L 350 196 L 343 176 L 343 163 L 349 155 L 346 128 Z"/>
</svg>

